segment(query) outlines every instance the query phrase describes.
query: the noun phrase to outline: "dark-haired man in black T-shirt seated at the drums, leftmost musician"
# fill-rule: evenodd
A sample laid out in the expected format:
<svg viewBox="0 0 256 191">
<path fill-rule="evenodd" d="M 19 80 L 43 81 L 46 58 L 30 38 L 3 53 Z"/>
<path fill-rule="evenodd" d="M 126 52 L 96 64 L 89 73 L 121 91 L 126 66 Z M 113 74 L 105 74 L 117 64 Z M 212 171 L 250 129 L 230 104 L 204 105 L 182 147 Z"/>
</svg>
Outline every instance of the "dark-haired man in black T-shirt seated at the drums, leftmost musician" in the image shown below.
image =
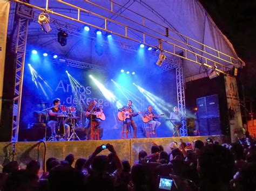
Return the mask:
<svg viewBox="0 0 256 191">
<path fill-rule="evenodd" d="M 59 98 L 55 98 L 53 100 L 53 107 L 48 110 L 48 114 L 49 114 L 48 126 L 50 126 L 50 128 L 51 128 L 52 136 L 54 136 L 54 137 L 56 136 L 55 128 L 59 122 L 58 129 L 60 128 L 60 126 L 65 125 L 64 139 L 68 140 L 69 133 L 70 133 L 70 126 L 68 124 L 65 124 L 66 118 L 65 118 L 64 112 L 62 111 L 62 109 L 60 109 L 60 99 Z"/>
</svg>

